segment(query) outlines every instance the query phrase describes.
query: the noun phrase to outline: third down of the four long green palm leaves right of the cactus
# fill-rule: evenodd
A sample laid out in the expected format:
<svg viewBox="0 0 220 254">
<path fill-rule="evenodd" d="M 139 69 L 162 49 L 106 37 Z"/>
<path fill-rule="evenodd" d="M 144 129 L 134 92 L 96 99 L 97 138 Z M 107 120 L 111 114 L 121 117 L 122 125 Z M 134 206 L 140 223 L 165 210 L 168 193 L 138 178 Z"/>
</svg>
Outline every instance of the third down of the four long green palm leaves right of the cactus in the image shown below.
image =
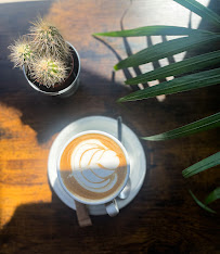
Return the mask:
<svg viewBox="0 0 220 254">
<path fill-rule="evenodd" d="M 165 67 L 156 68 L 152 72 L 141 74 L 134 78 L 126 80 L 127 85 L 137 85 L 155 79 L 161 79 L 169 76 L 176 76 L 179 74 L 192 72 L 206 66 L 215 65 L 220 62 L 220 50 L 197 55 L 191 59 L 186 59 L 177 63 L 169 64 Z"/>
</svg>

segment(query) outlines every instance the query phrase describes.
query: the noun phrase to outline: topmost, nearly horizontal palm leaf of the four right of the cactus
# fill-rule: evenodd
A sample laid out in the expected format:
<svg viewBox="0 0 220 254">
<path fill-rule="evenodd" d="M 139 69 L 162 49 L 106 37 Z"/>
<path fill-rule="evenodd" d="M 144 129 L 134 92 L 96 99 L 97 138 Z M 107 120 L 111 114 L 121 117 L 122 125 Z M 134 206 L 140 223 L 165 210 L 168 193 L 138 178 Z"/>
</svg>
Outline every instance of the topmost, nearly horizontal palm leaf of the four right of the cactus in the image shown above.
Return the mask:
<svg viewBox="0 0 220 254">
<path fill-rule="evenodd" d="M 138 36 L 161 36 L 161 35 L 192 35 L 210 33 L 208 30 L 191 29 L 178 26 L 143 26 L 134 29 L 115 30 L 106 33 L 96 33 L 93 36 L 107 36 L 107 37 L 138 37 Z"/>
</svg>

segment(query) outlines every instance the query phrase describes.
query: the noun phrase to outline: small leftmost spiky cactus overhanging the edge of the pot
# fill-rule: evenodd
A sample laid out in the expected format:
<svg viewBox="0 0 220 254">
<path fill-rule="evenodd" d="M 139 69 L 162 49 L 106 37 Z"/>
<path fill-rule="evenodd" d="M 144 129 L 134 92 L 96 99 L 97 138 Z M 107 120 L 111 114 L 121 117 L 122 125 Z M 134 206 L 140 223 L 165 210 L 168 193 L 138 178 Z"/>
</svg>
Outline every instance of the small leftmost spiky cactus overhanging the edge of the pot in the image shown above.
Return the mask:
<svg viewBox="0 0 220 254">
<path fill-rule="evenodd" d="M 14 63 L 14 67 L 22 68 L 24 64 L 28 66 L 33 61 L 34 53 L 27 37 L 21 37 L 9 49 L 11 50 L 10 59 Z"/>
</svg>

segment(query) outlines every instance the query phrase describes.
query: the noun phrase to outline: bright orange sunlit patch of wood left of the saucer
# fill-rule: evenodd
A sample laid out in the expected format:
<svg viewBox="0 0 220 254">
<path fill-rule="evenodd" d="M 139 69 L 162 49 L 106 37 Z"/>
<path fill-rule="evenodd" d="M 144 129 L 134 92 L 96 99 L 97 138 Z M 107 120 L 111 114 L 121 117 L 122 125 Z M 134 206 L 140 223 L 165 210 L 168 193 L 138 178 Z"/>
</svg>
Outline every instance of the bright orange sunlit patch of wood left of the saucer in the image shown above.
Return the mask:
<svg viewBox="0 0 220 254">
<path fill-rule="evenodd" d="M 0 228 L 17 206 L 51 202 L 47 164 L 52 140 L 39 145 L 36 131 L 21 117 L 20 111 L 0 103 Z"/>
</svg>

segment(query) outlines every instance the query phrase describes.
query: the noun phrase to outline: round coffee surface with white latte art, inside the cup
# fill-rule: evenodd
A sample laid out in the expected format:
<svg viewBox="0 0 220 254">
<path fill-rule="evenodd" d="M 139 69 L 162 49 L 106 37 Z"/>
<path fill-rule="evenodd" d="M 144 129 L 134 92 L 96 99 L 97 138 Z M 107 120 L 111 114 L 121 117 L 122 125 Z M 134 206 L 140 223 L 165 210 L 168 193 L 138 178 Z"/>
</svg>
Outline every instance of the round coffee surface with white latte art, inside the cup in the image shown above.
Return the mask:
<svg viewBox="0 0 220 254">
<path fill-rule="evenodd" d="M 69 192 L 92 202 L 114 195 L 125 182 L 127 162 L 121 148 L 100 134 L 70 141 L 60 160 L 60 174 Z"/>
</svg>

